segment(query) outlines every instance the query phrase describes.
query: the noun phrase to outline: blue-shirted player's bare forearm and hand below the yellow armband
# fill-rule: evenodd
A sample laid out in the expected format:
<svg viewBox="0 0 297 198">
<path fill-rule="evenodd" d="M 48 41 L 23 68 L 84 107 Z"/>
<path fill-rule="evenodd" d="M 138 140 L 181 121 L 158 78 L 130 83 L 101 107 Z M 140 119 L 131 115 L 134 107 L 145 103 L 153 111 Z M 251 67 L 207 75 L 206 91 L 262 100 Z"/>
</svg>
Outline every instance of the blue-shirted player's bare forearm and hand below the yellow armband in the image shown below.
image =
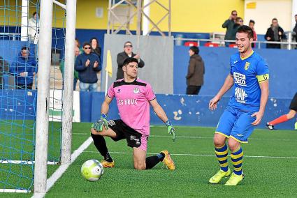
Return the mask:
<svg viewBox="0 0 297 198">
<path fill-rule="evenodd" d="M 259 82 L 259 86 L 261 89 L 261 99 L 260 99 L 260 109 L 259 112 L 252 114 L 252 116 L 256 116 L 256 120 L 252 123 L 252 125 L 259 125 L 261 119 L 263 118 L 266 103 L 269 96 L 269 82 L 265 80 L 263 82 Z"/>
</svg>

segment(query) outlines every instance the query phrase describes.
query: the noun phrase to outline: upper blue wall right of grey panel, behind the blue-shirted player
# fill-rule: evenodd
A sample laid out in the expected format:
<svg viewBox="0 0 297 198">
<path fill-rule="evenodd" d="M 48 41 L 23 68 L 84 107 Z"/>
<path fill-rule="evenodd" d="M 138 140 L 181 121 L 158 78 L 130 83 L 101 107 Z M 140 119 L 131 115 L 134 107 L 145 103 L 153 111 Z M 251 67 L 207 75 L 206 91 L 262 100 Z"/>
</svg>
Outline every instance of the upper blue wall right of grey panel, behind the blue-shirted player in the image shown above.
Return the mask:
<svg viewBox="0 0 297 198">
<path fill-rule="evenodd" d="M 187 67 L 189 64 L 189 47 L 174 48 L 174 82 L 173 93 L 185 93 Z M 204 86 L 202 96 L 214 96 L 224 83 L 229 73 L 229 58 L 237 50 L 226 47 L 200 47 L 205 62 Z M 270 97 L 292 98 L 297 90 L 297 50 L 255 50 L 268 62 L 270 69 Z M 226 96 L 231 96 L 231 91 Z"/>
</svg>

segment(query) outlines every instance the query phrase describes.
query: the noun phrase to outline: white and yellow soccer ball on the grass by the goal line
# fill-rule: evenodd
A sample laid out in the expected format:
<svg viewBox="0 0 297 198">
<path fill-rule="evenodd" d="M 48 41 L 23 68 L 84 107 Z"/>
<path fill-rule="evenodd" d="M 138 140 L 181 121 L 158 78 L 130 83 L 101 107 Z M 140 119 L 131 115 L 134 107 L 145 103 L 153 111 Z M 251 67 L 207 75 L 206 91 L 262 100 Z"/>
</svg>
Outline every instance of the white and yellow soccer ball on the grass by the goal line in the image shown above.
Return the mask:
<svg viewBox="0 0 297 198">
<path fill-rule="evenodd" d="M 103 166 L 98 160 L 87 160 L 80 171 L 87 181 L 98 181 L 103 175 Z"/>
</svg>

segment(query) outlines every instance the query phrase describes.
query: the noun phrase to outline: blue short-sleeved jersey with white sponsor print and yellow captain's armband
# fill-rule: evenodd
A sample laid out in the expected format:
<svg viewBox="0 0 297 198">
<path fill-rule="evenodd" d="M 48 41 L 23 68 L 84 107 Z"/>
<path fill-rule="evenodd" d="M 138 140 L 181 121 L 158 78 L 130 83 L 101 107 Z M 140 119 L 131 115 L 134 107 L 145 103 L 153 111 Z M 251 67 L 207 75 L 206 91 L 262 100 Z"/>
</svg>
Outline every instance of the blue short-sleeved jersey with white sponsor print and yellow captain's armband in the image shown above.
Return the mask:
<svg viewBox="0 0 297 198">
<path fill-rule="evenodd" d="M 233 54 L 230 66 L 234 86 L 229 105 L 242 110 L 258 112 L 261 99 L 259 83 L 269 79 L 268 64 L 253 51 L 243 59 L 239 52 Z"/>
</svg>

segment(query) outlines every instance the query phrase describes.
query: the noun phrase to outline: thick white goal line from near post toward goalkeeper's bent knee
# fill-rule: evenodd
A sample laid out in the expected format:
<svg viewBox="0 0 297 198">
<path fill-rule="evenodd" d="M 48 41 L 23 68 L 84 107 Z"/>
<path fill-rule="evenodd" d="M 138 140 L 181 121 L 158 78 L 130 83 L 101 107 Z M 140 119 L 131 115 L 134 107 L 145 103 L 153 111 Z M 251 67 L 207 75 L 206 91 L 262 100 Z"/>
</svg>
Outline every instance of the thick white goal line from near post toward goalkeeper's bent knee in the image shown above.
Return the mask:
<svg viewBox="0 0 297 198">
<path fill-rule="evenodd" d="M 87 147 L 89 147 L 89 144 L 91 144 L 92 142 L 93 142 L 92 137 L 89 137 L 84 143 L 82 143 L 82 145 L 80 145 L 80 147 L 78 149 L 76 149 L 72 153 L 70 164 L 59 166 L 59 168 L 54 172 L 54 174 L 52 174 L 52 176 L 50 176 L 50 178 L 48 178 L 48 180 L 46 181 L 46 183 L 47 183 L 46 192 L 48 192 L 48 190 L 50 190 L 50 188 L 52 188 L 52 186 L 55 184 L 55 182 L 62 176 L 62 174 L 64 174 L 64 172 L 66 172 L 66 169 L 68 169 L 68 167 L 75 161 L 75 159 L 78 158 L 78 156 L 83 151 L 85 151 L 85 149 Z M 43 197 L 45 197 L 45 193 L 34 193 L 32 198 L 43 198 Z"/>
</svg>

